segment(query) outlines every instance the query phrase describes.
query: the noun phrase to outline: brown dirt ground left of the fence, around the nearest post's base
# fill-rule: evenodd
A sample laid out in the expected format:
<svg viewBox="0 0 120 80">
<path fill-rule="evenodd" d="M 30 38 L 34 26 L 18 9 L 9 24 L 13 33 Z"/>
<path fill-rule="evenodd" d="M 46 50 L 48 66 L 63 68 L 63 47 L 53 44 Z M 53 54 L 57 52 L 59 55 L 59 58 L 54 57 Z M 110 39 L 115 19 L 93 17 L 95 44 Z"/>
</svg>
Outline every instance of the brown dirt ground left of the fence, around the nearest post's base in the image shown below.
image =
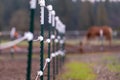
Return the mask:
<svg viewBox="0 0 120 80">
<path fill-rule="evenodd" d="M 37 55 L 36 55 L 37 56 Z M 0 56 L 0 80 L 26 80 L 27 55 L 15 54 L 14 58 L 11 55 L 1 54 Z M 36 73 L 39 70 L 39 59 L 32 60 L 32 80 L 35 79 Z"/>
</svg>

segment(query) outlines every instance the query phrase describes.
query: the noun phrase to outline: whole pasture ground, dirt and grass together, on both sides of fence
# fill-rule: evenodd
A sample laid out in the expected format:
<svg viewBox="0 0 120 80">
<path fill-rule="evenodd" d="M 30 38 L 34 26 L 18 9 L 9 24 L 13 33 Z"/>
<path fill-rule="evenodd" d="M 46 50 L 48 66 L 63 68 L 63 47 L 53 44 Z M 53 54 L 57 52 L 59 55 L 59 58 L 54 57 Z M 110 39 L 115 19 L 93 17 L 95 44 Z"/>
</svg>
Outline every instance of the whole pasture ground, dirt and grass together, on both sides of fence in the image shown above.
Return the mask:
<svg viewBox="0 0 120 80">
<path fill-rule="evenodd" d="M 82 54 L 77 49 L 79 45 L 76 48 L 78 43 L 79 40 L 66 40 L 66 61 L 62 70 L 60 70 L 60 73 L 56 76 L 57 80 L 119 80 L 119 40 L 114 40 L 114 45 L 110 48 L 104 46 L 104 51 L 100 50 L 99 45 L 101 42 L 96 41 L 96 44 L 93 46 L 99 46 L 97 47 L 99 49 L 95 48 L 97 50 L 90 50 L 85 48 L 86 51 Z M 118 46 L 116 49 L 114 48 L 115 45 Z M 22 42 L 18 44 L 18 46 L 27 49 L 28 45 L 26 42 Z M 33 48 L 39 48 L 39 44 L 34 43 L 33 46 Z M 44 57 L 47 57 L 46 53 Z M 2 80 L 25 80 L 27 67 L 26 52 L 16 51 L 12 58 L 9 49 L 1 51 L 0 62 L 0 77 Z M 35 80 L 36 72 L 39 70 L 39 64 L 38 50 L 32 55 L 32 80 Z M 47 77 L 46 74 L 47 71 L 44 75 L 45 79 Z"/>
</svg>

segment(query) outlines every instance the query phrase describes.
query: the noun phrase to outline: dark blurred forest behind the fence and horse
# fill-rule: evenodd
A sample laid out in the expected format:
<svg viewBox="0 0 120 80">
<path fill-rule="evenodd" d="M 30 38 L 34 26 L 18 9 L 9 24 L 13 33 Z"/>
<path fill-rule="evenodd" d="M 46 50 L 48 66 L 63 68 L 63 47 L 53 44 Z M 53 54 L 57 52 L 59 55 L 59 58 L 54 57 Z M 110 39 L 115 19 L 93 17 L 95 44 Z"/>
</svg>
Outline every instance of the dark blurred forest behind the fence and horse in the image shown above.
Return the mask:
<svg viewBox="0 0 120 80">
<path fill-rule="evenodd" d="M 66 25 L 67 30 L 86 30 L 97 25 L 109 25 L 113 29 L 120 27 L 120 2 L 91 3 L 88 0 L 46 0 L 46 5 L 52 4 Z M 0 31 L 16 27 L 26 31 L 29 28 L 29 0 L 0 0 Z M 47 17 L 46 17 L 47 18 Z M 40 28 L 40 7 L 35 11 L 35 30 Z M 47 26 L 47 25 L 46 25 Z M 47 27 L 46 27 L 47 28 Z"/>
</svg>

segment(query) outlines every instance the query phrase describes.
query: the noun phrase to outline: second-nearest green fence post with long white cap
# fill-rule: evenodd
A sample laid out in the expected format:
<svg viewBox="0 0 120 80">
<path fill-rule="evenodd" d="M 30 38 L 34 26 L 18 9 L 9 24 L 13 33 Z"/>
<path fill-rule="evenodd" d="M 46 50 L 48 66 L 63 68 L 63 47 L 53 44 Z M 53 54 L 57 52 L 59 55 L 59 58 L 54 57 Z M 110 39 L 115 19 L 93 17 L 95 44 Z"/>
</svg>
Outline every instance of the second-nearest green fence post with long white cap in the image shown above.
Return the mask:
<svg viewBox="0 0 120 80">
<path fill-rule="evenodd" d="M 39 0 L 40 4 L 40 13 L 41 13 L 41 33 L 40 35 L 44 37 L 44 7 L 45 7 L 45 0 Z M 40 42 L 40 71 L 43 72 L 43 64 L 44 64 L 44 40 Z M 43 75 L 40 76 L 40 80 L 43 80 Z"/>
</svg>

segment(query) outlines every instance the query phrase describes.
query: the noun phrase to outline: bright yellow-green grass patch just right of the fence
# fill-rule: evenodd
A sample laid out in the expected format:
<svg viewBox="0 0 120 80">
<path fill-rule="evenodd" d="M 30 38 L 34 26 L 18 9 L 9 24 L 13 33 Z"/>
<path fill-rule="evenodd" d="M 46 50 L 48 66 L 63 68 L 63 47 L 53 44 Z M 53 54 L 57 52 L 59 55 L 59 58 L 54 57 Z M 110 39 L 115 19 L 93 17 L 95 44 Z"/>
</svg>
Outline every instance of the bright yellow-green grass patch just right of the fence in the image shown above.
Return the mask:
<svg viewBox="0 0 120 80">
<path fill-rule="evenodd" d="M 71 62 L 66 65 L 62 80 L 95 80 L 96 75 L 86 63 Z"/>
</svg>

